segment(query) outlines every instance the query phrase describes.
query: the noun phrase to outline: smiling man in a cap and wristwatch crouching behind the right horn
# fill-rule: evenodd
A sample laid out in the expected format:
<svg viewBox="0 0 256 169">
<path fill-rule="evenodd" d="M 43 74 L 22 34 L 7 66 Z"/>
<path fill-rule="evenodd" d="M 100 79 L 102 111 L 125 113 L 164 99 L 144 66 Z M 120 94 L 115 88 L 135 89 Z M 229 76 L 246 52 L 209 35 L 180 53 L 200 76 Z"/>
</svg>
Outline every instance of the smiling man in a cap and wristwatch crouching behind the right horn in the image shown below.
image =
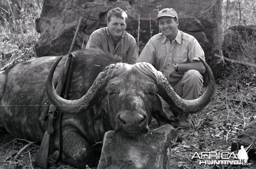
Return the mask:
<svg viewBox="0 0 256 169">
<path fill-rule="evenodd" d="M 148 41 L 137 62 L 148 62 L 161 71 L 180 97 L 186 100 L 198 98 L 203 87 L 200 73 L 205 72 L 198 57 L 205 59 L 204 51 L 193 36 L 178 30 L 178 15 L 174 9 L 161 10 L 156 20 L 161 33 Z M 170 105 L 160 96 L 159 98 L 164 110 L 171 117 Z M 179 127 L 191 126 L 188 115 L 178 116 Z"/>
</svg>

